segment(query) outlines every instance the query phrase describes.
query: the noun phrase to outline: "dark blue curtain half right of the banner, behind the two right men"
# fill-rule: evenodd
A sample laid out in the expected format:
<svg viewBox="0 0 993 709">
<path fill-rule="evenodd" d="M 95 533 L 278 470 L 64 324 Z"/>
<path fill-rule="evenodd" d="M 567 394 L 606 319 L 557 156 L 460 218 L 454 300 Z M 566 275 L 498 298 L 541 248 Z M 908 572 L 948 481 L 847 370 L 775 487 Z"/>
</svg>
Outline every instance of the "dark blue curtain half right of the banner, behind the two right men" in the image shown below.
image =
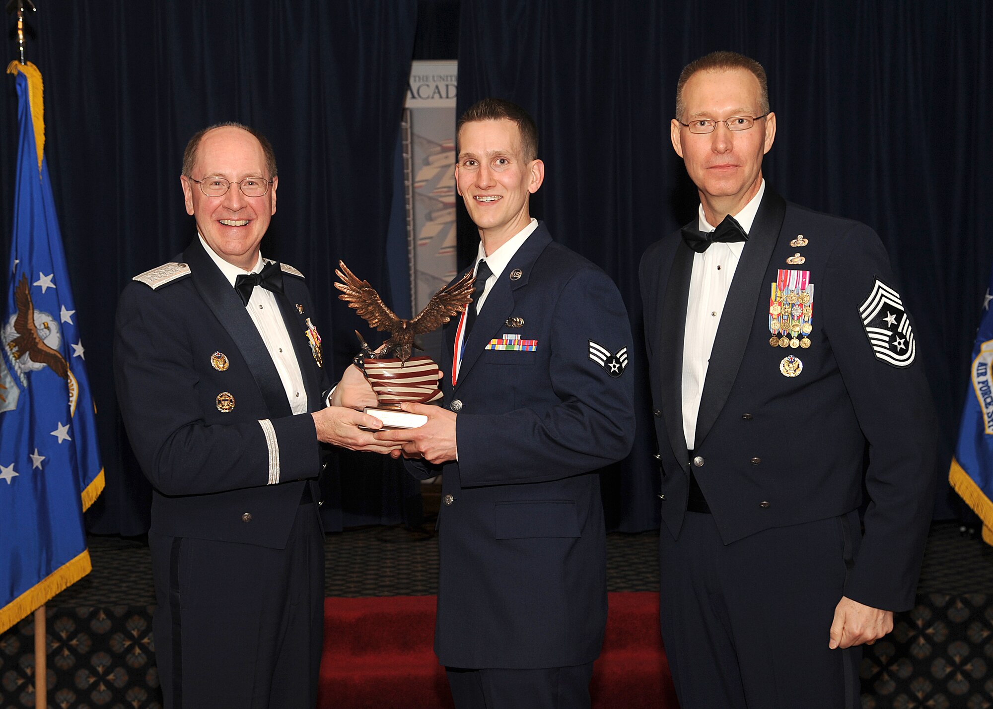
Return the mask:
<svg viewBox="0 0 993 709">
<path fill-rule="evenodd" d="M 787 200 L 864 221 L 887 244 L 941 417 L 934 474 L 947 475 L 993 263 L 993 6 L 465 0 L 461 13 L 459 111 L 487 95 L 531 111 L 546 167 L 535 212 L 614 277 L 638 333 L 638 259 L 698 204 L 669 144 L 679 71 L 714 50 L 761 62 L 779 118 L 766 177 Z M 462 263 L 477 238 L 460 229 Z M 629 531 L 658 523 L 638 391 L 635 451 L 602 476 L 608 523 Z M 939 497 L 939 514 L 957 512 Z"/>
</svg>

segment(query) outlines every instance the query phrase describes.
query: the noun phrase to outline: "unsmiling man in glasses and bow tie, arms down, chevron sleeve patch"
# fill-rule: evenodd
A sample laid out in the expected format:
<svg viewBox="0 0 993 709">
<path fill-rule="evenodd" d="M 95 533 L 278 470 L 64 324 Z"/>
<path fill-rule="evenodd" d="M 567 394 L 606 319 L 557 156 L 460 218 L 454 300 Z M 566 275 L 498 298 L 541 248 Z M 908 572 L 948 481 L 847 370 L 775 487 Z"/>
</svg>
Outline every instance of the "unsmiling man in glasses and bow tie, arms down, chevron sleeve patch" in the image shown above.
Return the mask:
<svg viewBox="0 0 993 709">
<path fill-rule="evenodd" d="M 872 229 L 763 179 L 761 65 L 708 55 L 676 96 L 700 210 L 640 281 L 680 706 L 858 707 L 860 645 L 914 604 L 936 480 L 914 328 Z"/>
</svg>

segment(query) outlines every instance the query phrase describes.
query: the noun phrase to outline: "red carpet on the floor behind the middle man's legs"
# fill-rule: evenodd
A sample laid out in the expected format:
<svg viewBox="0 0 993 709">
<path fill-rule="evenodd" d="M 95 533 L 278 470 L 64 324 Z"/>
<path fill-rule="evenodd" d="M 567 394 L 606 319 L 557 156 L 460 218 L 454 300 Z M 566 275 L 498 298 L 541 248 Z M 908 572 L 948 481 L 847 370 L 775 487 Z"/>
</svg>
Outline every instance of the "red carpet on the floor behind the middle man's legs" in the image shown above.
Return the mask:
<svg viewBox="0 0 993 709">
<path fill-rule="evenodd" d="M 594 709 L 678 709 L 658 632 L 658 594 L 612 593 L 593 670 Z M 328 598 L 321 709 L 452 707 L 432 649 L 435 597 Z"/>
</svg>

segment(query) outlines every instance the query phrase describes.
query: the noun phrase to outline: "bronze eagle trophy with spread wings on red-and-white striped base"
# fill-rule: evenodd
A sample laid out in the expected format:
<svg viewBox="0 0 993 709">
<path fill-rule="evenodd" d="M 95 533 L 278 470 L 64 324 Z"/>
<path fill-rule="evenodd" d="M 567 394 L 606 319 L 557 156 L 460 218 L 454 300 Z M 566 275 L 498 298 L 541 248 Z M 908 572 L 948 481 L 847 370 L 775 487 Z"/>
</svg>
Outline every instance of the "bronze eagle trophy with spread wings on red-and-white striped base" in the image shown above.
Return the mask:
<svg viewBox="0 0 993 709">
<path fill-rule="evenodd" d="M 355 308 L 370 327 L 389 333 L 389 339 L 373 351 L 355 331 L 361 345 L 355 364 L 365 372 L 379 405 L 395 410 L 404 402 L 428 403 L 441 398 L 438 365 L 429 356 L 411 356 L 417 347 L 414 338 L 437 330 L 462 314 L 473 301 L 476 279 L 472 271 L 435 293 L 424 310 L 406 320 L 387 308 L 368 281 L 359 280 L 344 261 L 339 261 L 338 265 L 335 275 L 342 281 L 335 283 L 335 287 L 342 291 L 338 297 L 350 308 Z M 393 356 L 390 357 L 390 354 Z M 380 416 L 377 412 L 381 410 L 367 412 Z M 385 420 L 383 422 L 386 423 Z"/>
</svg>

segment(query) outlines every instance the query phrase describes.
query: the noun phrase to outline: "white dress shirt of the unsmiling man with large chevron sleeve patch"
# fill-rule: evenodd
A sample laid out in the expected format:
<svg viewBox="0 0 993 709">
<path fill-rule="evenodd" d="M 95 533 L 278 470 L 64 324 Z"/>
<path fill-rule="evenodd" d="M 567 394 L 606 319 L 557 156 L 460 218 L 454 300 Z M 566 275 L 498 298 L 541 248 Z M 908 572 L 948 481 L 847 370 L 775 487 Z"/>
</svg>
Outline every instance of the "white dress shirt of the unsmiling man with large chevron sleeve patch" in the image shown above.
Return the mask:
<svg viewBox="0 0 993 709">
<path fill-rule="evenodd" d="M 762 181 L 759 192 L 745 206 L 734 214 L 735 219 L 748 233 L 759 212 L 762 196 L 766 193 L 766 181 Z M 707 223 L 700 205 L 698 223 L 701 231 L 713 231 L 716 227 Z M 682 406 L 683 433 L 686 448 L 696 446 L 696 418 L 700 411 L 700 398 L 707 378 L 707 366 L 717 337 L 717 326 L 721 323 L 724 301 L 731 289 L 731 281 L 738 268 L 738 260 L 746 241 L 733 243 L 715 242 L 703 253 L 693 254 L 693 272 L 689 281 L 689 300 L 686 303 L 686 336 L 683 340 Z"/>
</svg>

